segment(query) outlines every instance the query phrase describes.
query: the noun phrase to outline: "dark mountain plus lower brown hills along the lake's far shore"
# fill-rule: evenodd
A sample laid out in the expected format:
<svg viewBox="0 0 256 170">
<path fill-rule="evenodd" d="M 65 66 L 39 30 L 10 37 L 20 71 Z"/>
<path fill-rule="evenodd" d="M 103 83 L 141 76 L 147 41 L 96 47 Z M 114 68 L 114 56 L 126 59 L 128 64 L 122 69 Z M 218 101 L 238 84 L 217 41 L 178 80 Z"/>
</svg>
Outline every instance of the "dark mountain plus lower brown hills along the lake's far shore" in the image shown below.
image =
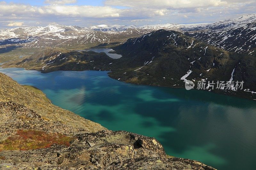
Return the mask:
<svg viewBox="0 0 256 170">
<path fill-rule="evenodd" d="M 3 67 L 23 67 L 44 73 L 57 70 L 111 70 L 109 76 L 120 81 L 179 88 L 184 88 L 186 79 L 194 83 L 204 80 L 205 87 L 208 87 L 207 81 L 229 81 L 232 78 L 234 81 L 244 81 L 244 89 L 211 90 L 208 87 L 204 90 L 256 99 L 256 79 L 253 76 L 256 74 L 256 59 L 251 55 L 228 52 L 184 33 L 166 30 L 128 39 L 113 49 L 122 54 L 120 59 L 112 59 L 104 53 L 82 54 L 77 51 L 68 51 L 58 58 L 60 52 L 57 51 L 54 55 L 47 55 L 48 60 L 45 60 L 42 58 L 44 52 L 42 55 L 36 52 L 34 57 L 30 57 L 42 58 L 39 61 L 28 60 L 28 57 L 5 63 Z M 92 54 L 91 58 L 81 57 Z M 105 56 L 104 62 L 92 62 L 97 61 L 99 55 Z M 49 61 L 51 57 L 57 58 Z M 65 61 L 62 58 L 66 58 Z M 81 61 L 82 58 L 84 61 Z"/>
</svg>

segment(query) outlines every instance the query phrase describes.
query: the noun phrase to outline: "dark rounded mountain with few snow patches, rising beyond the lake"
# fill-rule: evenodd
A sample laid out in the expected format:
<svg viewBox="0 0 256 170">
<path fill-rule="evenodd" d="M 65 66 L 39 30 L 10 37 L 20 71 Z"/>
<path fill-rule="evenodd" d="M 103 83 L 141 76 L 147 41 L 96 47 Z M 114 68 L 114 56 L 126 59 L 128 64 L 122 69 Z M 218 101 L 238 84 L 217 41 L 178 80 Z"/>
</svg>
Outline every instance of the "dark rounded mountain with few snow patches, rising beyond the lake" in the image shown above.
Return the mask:
<svg viewBox="0 0 256 170">
<path fill-rule="evenodd" d="M 114 49 L 123 55 L 114 65 L 126 65 L 122 70 L 111 72 L 110 77 L 137 84 L 171 87 L 184 87 L 186 79 L 193 80 L 195 84 L 206 81 L 207 87 L 208 81 L 227 82 L 232 78 L 235 82 L 244 81 L 243 90 L 212 91 L 255 99 L 256 58 L 253 56 L 228 52 L 183 33 L 165 30 L 129 39 Z M 250 92 L 245 92 L 245 89 L 250 89 L 246 90 Z M 211 91 L 210 88 L 205 90 Z"/>
</svg>

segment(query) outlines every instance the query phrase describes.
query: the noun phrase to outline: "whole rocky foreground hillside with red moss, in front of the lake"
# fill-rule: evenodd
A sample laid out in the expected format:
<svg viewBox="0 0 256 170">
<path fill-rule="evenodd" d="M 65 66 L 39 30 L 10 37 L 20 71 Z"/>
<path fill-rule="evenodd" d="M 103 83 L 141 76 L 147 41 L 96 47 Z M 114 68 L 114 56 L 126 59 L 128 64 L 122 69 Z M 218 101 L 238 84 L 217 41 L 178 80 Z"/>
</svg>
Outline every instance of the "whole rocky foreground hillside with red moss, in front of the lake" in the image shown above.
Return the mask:
<svg viewBox="0 0 256 170">
<path fill-rule="evenodd" d="M 151 137 L 111 131 L 0 73 L 0 169 L 200 169 Z"/>
</svg>

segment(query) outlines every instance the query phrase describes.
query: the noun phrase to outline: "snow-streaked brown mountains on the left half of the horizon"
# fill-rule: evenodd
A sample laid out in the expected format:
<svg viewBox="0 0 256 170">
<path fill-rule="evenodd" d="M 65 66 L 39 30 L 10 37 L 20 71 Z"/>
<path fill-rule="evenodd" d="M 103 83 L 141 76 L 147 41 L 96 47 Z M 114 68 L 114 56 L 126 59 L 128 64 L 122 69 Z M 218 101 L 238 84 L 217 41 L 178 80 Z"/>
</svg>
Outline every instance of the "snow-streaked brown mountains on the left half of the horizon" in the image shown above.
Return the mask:
<svg viewBox="0 0 256 170">
<path fill-rule="evenodd" d="M 0 31 L 0 46 L 18 44 L 30 47 L 67 47 L 110 43 L 141 35 L 140 30 L 101 32 L 79 26 L 52 25 L 46 27 L 18 27 Z"/>
</svg>

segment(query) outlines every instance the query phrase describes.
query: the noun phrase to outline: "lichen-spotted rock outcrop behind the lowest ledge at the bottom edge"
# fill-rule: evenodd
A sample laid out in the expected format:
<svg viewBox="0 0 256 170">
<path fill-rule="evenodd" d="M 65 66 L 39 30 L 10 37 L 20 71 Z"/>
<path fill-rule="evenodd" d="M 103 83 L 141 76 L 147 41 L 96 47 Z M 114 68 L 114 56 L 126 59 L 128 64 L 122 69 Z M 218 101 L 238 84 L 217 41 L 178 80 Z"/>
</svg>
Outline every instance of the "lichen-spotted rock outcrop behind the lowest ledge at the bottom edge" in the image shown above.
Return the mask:
<svg viewBox="0 0 256 170">
<path fill-rule="evenodd" d="M 144 157 L 166 158 L 163 146 L 155 139 L 125 131 L 103 130 L 74 136 L 70 146 L 53 144 L 49 148 L 1 153 L 0 167 L 37 166 L 62 168 L 104 168 L 127 159 Z M 143 141 L 138 145 L 138 142 Z M 36 164 L 35 164 L 36 162 Z"/>
</svg>

